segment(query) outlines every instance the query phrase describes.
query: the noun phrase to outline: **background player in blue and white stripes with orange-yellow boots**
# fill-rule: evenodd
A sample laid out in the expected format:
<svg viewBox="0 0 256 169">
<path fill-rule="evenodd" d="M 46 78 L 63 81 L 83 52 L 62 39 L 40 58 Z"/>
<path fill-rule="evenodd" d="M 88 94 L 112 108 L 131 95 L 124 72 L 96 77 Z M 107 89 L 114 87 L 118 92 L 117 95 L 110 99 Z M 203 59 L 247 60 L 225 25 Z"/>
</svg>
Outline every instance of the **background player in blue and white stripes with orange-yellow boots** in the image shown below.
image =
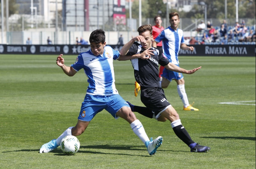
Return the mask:
<svg viewBox="0 0 256 169">
<path fill-rule="evenodd" d="M 164 56 L 167 57 L 167 59 L 179 66 L 179 59 L 178 54 L 180 51 L 180 48 L 183 50 L 190 50 L 193 51 L 193 46 L 187 46 L 184 42 L 183 38 L 183 31 L 181 29 L 178 29 L 180 18 L 179 14 L 177 12 L 172 12 L 169 14 L 170 23 L 171 26 L 164 29 L 155 39 L 155 41 L 152 42 L 152 46 L 156 47 L 156 43 L 162 41 L 163 46 L 163 52 Z M 183 110 L 194 110 L 198 111 L 198 109 L 192 107 L 192 105 L 188 102 L 188 96 L 185 91 L 185 81 L 183 78 L 182 73 L 177 73 L 170 71 L 166 68 L 163 70 L 162 81 L 161 86 L 162 88 L 167 88 L 170 84 L 170 82 L 174 79 L 177 82 L 177 90 L 178 94 L 180 96 L 180 99 L 183 102 Z"/>
</svg>

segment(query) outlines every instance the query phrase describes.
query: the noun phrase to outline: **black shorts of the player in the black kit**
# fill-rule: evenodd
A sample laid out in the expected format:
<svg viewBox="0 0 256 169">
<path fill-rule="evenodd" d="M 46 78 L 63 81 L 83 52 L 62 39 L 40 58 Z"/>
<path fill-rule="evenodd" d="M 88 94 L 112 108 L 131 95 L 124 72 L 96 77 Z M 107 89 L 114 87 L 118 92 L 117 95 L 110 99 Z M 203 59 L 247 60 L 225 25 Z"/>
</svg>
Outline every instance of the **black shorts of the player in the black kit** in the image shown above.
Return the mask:
<svg viewBox="0 0 256 169">
<path fill-rule="evenodd" d="M 160 116 L 160 113 L 166 110 L 168 107 L 172 106 L 166 99 L 164 95 L 164 90 L 162 88 L 142 88 L 140 94 L 141 102 L 155 113 L 156 118 Z"/>
</svg>

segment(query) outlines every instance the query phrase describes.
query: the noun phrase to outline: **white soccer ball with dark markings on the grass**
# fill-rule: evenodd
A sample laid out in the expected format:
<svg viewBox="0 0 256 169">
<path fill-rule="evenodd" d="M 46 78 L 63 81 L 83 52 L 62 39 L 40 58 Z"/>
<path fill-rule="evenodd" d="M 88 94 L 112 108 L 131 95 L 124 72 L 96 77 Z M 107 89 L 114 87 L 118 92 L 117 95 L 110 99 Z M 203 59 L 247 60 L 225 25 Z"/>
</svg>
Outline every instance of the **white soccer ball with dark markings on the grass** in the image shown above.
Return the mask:
<svg viewBox="0 0 256 169">
<path fill-rule="evenodd" d="M 80 148 L 79 140 L 73 135 L 67 135 L 61 140 L 60 149 L 68 155 L 75 154 Z"/>
</svg>

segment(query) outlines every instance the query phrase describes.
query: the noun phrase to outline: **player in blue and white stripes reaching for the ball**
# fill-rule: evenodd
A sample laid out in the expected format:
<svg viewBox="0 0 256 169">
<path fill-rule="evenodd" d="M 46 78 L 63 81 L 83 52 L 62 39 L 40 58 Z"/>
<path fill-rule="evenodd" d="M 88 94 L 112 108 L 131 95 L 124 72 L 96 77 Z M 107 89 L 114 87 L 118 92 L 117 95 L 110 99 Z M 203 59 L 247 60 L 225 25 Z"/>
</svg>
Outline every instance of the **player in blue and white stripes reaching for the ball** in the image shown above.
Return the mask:
<svg viewBox="0 0 256 169">
<path fill-rule="evenodd" d="M 93 117 L 103 109 L 107 110 L 114 118 L 121 117 L 129 122 L 132 131 L 146 145 L 149 155 L 156 153 L 156 149 L 162 144 L 163 138 L 157 137 L 149 141 L 148 136 L 130 106 L 118 95 L 115 86 L 115 75 L 113 59 L 130 60 L 130 57 L 120 56 L 119 51 L 106 46 L 105 32 L 101 29 L 93 31 L 89 38 L 91 49 L 80 53 L 76 62 L 69 66 L 64 65 L 62 54 L 57 58 L 56 63 L 68 76 L 74 76 L 80 69 L 84 69 L 88 77 L 88 89 L 82 103 L 78 121 L 75 127 L 69 127 L 57 139 L 45 143 L 40 153 L 48 153 L 56 149 L 67 135 L 81 135 L 89 125 Z M 120 57 L 120 59 L 119 59 Z"/>
</svg>

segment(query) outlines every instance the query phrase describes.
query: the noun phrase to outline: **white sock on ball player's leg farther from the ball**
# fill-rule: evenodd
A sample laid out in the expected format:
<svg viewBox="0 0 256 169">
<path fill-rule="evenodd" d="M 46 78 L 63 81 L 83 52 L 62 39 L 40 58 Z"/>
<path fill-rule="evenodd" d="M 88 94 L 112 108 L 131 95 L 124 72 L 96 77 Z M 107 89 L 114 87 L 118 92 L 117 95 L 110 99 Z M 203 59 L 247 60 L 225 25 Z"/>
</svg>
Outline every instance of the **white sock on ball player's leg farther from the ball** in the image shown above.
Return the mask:
<svg viewBox="0 0 256 169">
<path fill-rule="evenodd" d="M 132 131 L 140 138 L 140 140 L 145 144 L 146 141 L 149 141 L 149 138 L 144 130 L 144 127 L 140 123 L 140 120 L 133 121 L 130 126 Z"/>
</svg>

